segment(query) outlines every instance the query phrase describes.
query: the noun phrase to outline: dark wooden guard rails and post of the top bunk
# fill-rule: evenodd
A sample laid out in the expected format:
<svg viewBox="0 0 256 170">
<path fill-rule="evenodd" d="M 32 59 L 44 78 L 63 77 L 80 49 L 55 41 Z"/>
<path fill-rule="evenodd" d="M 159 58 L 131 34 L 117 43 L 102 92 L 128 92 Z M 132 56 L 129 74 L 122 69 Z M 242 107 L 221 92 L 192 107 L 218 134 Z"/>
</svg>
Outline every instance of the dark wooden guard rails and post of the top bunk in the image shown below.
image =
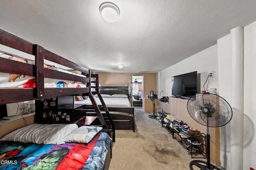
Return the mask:
<svg viewBox="0 0 256 170">
<path fill-rule="evenodd" d="M 89 83 L 89 69 L 64 59 L 63 57 L 44 49 L 40 45 L 30 43 L 2 29 L 0 29 L 0 44 L 35 56 L 35 65 L 21 63 L 19 61 L 13 61 L 0 57 L 0 72 L 30 75 L 34 76 L 36 79 L 36 88 L 1 88 L 0 104 L 30 101 L 49 98 L 52 96 L 59 97 L 65 95 L 78 95 L 82 93 L 88 93 L 90 91 L 89 87 L 68 89 L 44 88 L 44 77 Z M 82 74 L 86 75 L 87 77 L 81 77 L 44 68 L 44 59 L 69 67 L 71 69 L 81 71 Z"/>
</svg>

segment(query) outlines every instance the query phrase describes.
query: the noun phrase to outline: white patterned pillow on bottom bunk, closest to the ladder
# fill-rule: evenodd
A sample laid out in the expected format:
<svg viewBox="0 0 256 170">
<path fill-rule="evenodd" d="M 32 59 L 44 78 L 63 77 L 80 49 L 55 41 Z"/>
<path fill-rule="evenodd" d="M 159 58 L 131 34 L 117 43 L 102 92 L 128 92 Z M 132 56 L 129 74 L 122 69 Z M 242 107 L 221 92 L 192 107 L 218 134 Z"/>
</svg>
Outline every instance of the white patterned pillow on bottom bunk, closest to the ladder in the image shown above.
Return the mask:
<svg viewBox="0 0 256 170">
<path fill-rule="evenodd" d="M 68 134 L 64 140 L 69 143 L 89 143 L 100 130 L 102 127 L 82 126 Z"/>
</svg>

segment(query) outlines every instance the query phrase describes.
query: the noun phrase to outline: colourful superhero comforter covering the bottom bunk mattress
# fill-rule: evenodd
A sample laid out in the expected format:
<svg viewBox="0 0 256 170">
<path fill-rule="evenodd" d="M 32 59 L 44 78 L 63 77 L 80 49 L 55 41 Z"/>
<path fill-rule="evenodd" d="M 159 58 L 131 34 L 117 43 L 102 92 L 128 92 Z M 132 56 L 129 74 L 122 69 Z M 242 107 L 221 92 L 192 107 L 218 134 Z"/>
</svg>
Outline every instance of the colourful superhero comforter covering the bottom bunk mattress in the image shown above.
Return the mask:
<svg viewBox="0 0 256 170">
<path fill-rule="evenodd" d="M 1 170 L 101 170 L 110 147 L 106 132 L 88 144 L 35 144 L 8 141 L 0 145 Z"/>
</svg>

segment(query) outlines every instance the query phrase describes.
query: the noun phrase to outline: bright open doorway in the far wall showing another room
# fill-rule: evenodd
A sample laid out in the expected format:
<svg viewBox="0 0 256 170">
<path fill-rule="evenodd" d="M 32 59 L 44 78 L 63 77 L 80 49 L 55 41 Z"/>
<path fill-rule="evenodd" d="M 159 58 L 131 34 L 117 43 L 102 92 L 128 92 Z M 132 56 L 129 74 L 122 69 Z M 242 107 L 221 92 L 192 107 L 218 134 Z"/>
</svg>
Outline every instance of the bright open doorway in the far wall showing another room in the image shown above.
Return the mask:
<svg viewBox="0 0 256 170">
<path fill-rule="evenodd" d="M 132 105 L 143 107 L 143 75 L 132 75 Z"/>
</svg>

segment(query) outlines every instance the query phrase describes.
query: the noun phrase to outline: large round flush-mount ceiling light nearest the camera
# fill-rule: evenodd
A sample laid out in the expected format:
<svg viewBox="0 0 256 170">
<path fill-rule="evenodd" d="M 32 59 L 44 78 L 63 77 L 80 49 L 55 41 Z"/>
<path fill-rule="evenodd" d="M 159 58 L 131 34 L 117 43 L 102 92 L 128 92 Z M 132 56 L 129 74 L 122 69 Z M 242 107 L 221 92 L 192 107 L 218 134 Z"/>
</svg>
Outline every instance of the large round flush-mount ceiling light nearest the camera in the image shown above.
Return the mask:
<svg viewBox="0 0 256 170">
<path fill-rule="evenodd" d="M 115 22 L 120 14 L 118 6 L 112 2 L 104 2 L 100 5 L 100 14 L 107 22 Z"/>
</svg>

